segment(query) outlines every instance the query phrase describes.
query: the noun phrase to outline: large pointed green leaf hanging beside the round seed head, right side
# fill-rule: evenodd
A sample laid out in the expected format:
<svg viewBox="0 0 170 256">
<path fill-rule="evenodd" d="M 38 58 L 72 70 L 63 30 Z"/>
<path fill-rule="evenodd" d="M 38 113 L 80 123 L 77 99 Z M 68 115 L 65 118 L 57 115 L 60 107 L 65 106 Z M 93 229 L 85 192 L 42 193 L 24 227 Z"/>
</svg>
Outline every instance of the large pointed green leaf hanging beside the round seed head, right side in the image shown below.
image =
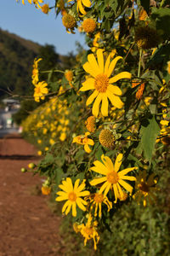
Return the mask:
<svg viewBox="0 0 170 256">
<path fill-rule="evenodd" d="M 158 136 L 160 127 L 156 122 L 154 115 L 150 119 L 144 119 L 140 129 L 141 145 L 144 150 L 146 160 L 151 161 L 154 152 L 156 137 Z"/>
</svg>

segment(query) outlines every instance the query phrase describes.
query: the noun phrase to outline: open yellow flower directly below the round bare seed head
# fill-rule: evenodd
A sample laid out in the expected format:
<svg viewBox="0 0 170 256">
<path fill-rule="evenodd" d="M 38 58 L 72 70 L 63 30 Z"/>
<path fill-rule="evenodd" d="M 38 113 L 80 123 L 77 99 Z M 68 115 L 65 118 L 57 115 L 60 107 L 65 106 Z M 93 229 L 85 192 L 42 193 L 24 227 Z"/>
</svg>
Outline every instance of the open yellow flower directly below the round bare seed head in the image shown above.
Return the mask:
<svg viewBox="0 0 170 256">
<path fill-rule="evenodd" d="M 120 166 L 122 165 L 122 154 L 118 154 L 116 157 L 115 165 L 113 165 L 111 159 L 108 156 L 105 156 L 102 154 L 101 160 L 103 163 L 101 163 L 99 160 L 94 161 L 94 166 L 90 168 L 90 170 L 97 172 L 99 174 L 105 175 L 105 177 L 98 177 L 94 178 L 90 182 L 92 186 L 96 186 L 99 183 L 103 183 L 102 186 L 99 189 L 99 194 L 101 194 L 103 191 L 104 196 L 107 195 L 110 189 L 114 190 L 115 194 L 115 203 L 117 201 L 117 198 L 121 195 L 123 196 L 122 188 L 127 189 L 130 194 L 133 191 L 133 187 L 125 182 L 124 180 L 129 181 L 135 181 L 136 178 L 133 176 L 126 176 L 128 172 L 131 172 L 133 170 L 138 169 L 137 167 L 130 167 L 127 169 L 122 170 L 121 172 L 118 172 L 120 169 Z M 121 186 L 120 186 L 121 185 Z"/>
</svg>

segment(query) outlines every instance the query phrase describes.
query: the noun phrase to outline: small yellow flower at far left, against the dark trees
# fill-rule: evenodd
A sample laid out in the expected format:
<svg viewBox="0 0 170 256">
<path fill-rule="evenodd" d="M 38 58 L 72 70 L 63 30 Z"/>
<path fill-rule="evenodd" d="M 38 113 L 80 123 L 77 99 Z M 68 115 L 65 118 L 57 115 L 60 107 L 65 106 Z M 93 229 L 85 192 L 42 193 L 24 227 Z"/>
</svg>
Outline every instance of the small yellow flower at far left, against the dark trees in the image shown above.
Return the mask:
<svg viewBox="0 0 170 256">
<path fill-rule="evenodd" d="M 40 102 L 41 100 L 45 99 L 46 94 L 48 94 L 48 88 L 46 88 L 48 84 L 45 81 L 39 82 L 38 84 L 35 85 L 34 89 L 34 98 L 35 102 Z"/>
</svg>

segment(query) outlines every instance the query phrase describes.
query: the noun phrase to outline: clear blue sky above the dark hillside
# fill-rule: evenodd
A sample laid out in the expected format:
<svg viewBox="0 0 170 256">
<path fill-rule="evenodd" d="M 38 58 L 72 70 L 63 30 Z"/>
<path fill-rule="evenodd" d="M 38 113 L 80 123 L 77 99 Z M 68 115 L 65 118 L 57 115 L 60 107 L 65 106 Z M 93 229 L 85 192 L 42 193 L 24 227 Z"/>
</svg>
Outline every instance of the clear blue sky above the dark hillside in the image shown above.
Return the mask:
<svg viewBox="0 0 170 256">
<path fill-rule="evenodd" d="M 75 52 L 75 42 L 84 46 L 84 37 L 77 32 L 68 34 L 62 25 L 61 16 L 57 18 L 54 9 L 44 15 L 40 9 L 25 0 L 26 5 L 16 3 L 16 0 L 0 0 L 0 27 L 8 32 L 15 33 L 21 38 L 30 39 L 39 44 L 54 44 L 59 54 L 66 55 Z M 48 0 L 53 6 L 54 0 Z"/>
</svg>

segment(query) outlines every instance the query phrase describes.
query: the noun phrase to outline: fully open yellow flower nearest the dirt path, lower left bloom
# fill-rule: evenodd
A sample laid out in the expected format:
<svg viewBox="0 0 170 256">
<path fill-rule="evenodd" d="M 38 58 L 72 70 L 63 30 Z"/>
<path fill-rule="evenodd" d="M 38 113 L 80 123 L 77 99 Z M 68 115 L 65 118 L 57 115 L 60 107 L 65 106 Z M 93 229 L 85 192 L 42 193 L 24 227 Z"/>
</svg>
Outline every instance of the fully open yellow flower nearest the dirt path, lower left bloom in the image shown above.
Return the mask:
<svg viewBox="0 0 170 256">
<path fill-rule="evenodd" d="M 82 210 L 86 211 L 87 201 L 84 201 L 81 197 L 89 195 L 88 190 L 85 189 L 85 182 L 83 181 L 80 185 L 80 179 L 78 178 L 74 184 L 72 184 L 71 178 L 67 177 L 66 180 L 62 181 L 62 184 L 59 185 L 59 188 L 63 191 L 59 191 L 56 194 L 59 195 L 55 200 L 56 201 L 65 201 L 65 204 L 62 208 L 62 212 L 65 212 L 67 215 L 71 211 L 72 207 L 72 216 L 77 216 L 77 206 Z"/>
</svg>

